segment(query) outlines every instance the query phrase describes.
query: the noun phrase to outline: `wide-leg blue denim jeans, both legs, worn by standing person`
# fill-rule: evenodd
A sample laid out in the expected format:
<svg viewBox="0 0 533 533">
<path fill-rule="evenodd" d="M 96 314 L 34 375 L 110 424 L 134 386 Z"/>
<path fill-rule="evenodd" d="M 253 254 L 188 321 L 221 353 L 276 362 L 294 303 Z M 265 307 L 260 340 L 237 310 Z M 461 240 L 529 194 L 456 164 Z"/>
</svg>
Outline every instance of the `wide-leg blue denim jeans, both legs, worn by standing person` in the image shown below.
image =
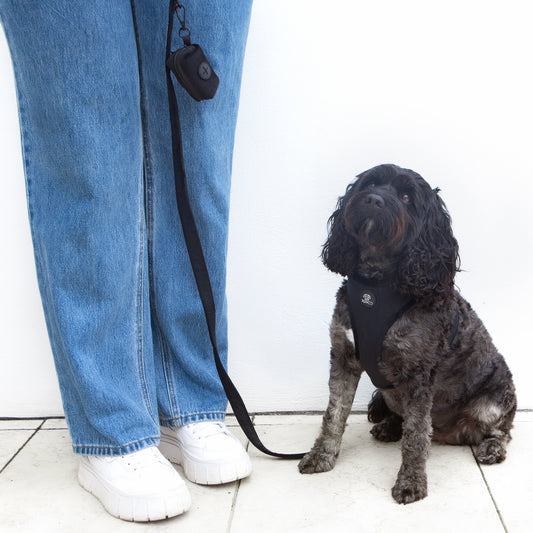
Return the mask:
<svg viewBox="0 0 533 533">
<path fill-rule="evenodd" d="M 177 91 L 225 361 L 230 174 L 252 1 L 184 3 L 193 42 L 220 77 L 209 102 Z M 223 419 L 226 397 L 175 204 L 167 0 L 0 0 L 0 19 L 74 451 L 129 453 L 158 444 L 160 425 Z"/>
</svg>

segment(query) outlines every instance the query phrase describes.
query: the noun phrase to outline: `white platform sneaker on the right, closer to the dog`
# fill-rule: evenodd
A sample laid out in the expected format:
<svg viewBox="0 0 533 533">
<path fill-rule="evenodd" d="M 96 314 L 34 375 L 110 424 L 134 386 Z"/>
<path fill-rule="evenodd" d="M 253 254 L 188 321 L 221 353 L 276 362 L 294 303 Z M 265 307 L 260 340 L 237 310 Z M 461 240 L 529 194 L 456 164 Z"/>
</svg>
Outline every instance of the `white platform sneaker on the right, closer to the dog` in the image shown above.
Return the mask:
<svg viewBox="0 0 533 533">
<path fill-rule="evenodd" d="M 223 422 L 197 422 L 161 428 L 161 453 L 183 466 L 187 479 L 219 485 L 250 475 L 252 465 L 242 444 Z"/>
</svg>

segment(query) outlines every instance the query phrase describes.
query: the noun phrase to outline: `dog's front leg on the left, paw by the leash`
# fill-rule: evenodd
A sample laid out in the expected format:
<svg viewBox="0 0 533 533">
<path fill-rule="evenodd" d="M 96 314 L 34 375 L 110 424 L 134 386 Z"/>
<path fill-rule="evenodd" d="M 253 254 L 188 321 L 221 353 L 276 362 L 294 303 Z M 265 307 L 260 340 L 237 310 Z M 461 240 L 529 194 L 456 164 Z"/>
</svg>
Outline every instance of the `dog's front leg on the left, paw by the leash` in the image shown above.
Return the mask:
<svg viewBox="0 0 533 533">
<path fill-rule="evenodd" d="M 355 359 L 353 344 L 345 333 L 337 335 L 332 324 L 331 368 L 329 377 L 329 403 L 322 430 L 311 451 L 298 465 L 302 474 L 327 472 L 335 466 L 339 455 L 346 419 L 350 414 L 355 390 L 361 377 L 361 367 Z"/>
</svg>

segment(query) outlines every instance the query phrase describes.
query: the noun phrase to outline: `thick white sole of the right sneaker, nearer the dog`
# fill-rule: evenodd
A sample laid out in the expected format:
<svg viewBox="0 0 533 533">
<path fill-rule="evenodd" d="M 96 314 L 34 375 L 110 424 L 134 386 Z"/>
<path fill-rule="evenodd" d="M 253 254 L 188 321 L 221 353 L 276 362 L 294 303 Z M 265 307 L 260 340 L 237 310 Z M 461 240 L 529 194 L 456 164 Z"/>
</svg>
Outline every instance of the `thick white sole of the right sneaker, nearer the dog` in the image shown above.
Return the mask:
<svg viewBox="0 0 533 533">
<path fill-rule="evenodd" d="M 182 449 L 178 439 L 163 433 L 159 451 L 171 463 L 182 466 L 185 477 L 198 485 L 222 485 L 243 479 L 252 473 L 247 455 L 240 461 L 226 463 L 198 461 Z"/>
</svg>

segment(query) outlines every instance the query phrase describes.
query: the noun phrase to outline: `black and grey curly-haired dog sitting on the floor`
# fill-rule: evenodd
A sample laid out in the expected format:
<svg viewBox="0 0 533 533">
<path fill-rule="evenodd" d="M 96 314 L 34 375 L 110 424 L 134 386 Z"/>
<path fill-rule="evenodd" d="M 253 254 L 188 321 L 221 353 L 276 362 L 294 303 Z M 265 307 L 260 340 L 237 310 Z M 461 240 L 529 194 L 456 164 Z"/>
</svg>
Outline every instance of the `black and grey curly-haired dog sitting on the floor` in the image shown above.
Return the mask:
<svg viewBox="0 0 533 533">
<path fill-rule="evenodd" d="M 385 282 L 414 299 L 382 344 L 379 368 L 392 388 L 377 390 L 368 412 L 376 439 L 401 439 L 402 464 L 392 488 L 399 503 L 427 495 L 432 438 L 473 445 L 480 463 L 503 461 L 516 411 L 511 372 L 454 289 L 458 246 L 438 192 L 416 172 L 395 165 L 360 174 L 329 220 L 322 252 L 333 272 Z M 299 464 L 306 474 L 335 465 L 362 373 L 346 296 L 344 281 L 330 327 L 329 404 L 321 433 Z"/>
</svg>

